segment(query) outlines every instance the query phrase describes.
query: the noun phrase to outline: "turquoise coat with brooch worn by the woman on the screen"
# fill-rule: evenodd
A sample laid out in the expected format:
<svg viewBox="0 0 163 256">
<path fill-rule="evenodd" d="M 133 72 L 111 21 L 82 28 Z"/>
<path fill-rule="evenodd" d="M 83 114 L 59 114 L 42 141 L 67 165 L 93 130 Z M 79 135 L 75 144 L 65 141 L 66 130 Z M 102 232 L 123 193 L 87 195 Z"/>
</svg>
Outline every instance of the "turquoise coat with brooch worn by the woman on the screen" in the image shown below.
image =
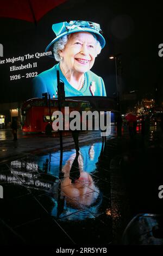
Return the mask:
<svg viewBox="0 0 163 256">
<path fill-rule="evenodd" d="M 60 80 L 65 84 L 65 96 L 106 96 L 104 82 L 101 77 L 92 71 L 85 73 L 85 83 L 81 90 L 77 90 L 71 86 L 66 80 L 59 68 L 59 64 L 53 68 L 43 71 L 33 79 L 32 96 L 42 97 L 42 93 L 49 93 L 51 97 L 57 97 L 57 70 L 59 70 Z M 95 89 L 95 93 L 93 92 Z"/>
</svg>

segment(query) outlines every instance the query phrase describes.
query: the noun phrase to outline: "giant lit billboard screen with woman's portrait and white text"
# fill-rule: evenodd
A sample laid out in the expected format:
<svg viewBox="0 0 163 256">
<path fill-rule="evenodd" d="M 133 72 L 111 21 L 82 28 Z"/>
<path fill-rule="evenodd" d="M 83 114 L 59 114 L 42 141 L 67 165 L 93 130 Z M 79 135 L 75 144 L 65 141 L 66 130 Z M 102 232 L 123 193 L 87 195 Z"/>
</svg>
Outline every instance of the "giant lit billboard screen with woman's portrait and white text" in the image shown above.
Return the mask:
<svg viewBox="0 0 163 256">
<path fill-rule="evenodd" d="M 58 97 L 57 70 L 66 97 L 108 96 L 100 64 L 106 44 L 102 25 L 66 19 L 34 24 L 1 18 L 5 24 L 0 58 L 2 102 L 42 97 L 43 93 Z M 14 30 L 9 36 L 11 23 Z"/>
</svg>

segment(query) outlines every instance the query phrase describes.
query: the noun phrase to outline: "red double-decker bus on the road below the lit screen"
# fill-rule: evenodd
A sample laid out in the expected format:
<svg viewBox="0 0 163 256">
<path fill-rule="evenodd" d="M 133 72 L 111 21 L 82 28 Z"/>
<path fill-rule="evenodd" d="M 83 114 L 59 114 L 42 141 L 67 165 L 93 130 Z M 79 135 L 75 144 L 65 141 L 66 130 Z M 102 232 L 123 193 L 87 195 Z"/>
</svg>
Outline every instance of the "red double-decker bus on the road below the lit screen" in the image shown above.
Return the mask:
<svg viewBox="0 0 163 256">
<path fill-rule="evenodd" d="M 49 103 L 49 102 L 48 102 Z M 61 112 L 64 114 L 65 107 L 69 111 L 89 111 L 91 109 L 88 101 L 66 99 L 61 103 Z M 55 117 L 52 116 L 54 111 L 58 111 L 58 99 L 50 100 L 49 104 L 42 98 L 29 99 L 22 104 L 22 130 L 24 132 L 45 132 L 46 126 Z M 51 118 L 50 118 L 51 116 Z"/>
</svg>

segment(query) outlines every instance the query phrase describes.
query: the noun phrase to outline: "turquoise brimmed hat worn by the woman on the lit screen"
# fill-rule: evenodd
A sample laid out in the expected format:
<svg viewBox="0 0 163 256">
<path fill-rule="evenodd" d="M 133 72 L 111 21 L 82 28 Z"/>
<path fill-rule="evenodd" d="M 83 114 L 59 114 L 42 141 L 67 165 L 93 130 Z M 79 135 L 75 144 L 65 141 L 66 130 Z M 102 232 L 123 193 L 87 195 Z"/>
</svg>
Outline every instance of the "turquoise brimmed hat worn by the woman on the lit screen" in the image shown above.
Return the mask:
<svg viewBox="0 0 163 256">
<path fill-rule="evenodd" d="M 98 23 L 91 21 L 65 21 L 52 25 L 52 29 L 56 35 L 56 38 L 46 47 L 45 52 L 49 51 L 54 42 L 56 42 L 61 36 L 68 35 L 76 32 L 90 32 L 96 35 L 96 39 L 103 48 L 105 46 L 105 39 L 103 37 L 102 30 Z"/>
</svg>

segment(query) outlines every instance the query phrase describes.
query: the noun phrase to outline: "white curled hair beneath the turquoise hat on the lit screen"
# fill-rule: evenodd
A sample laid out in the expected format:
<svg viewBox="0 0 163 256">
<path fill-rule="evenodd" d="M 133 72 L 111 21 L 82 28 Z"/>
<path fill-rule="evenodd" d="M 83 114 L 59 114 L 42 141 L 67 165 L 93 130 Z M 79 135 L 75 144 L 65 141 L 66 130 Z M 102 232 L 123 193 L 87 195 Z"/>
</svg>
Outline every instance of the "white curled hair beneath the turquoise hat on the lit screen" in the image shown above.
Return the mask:
<svg viewBox="0 0 163 256">
<path fill-rule="evenodd" d="M 63 35 L 56 42 L 54 42 L 54 45 L 53 45 L 54 58 L 55 58 L 55 60 L 57 60 L 57 62 L 61 61 L 61 57 L 60 57 L 59 51 L 64 50 L 65 45 L 67 44 L 67 41 L 70 38 L 70 36 L 71 36 L 71 34 Z M 96 45 L 95 45 L 96 53 L 98 55 L 99 53 L 101 53 L 102 47 L 99 44 L 99 41 L 96 39 L 96 36 L 94 36 L 94 38 L 95 38 L 95 41 L 96 41 Z"/>
</svg>

